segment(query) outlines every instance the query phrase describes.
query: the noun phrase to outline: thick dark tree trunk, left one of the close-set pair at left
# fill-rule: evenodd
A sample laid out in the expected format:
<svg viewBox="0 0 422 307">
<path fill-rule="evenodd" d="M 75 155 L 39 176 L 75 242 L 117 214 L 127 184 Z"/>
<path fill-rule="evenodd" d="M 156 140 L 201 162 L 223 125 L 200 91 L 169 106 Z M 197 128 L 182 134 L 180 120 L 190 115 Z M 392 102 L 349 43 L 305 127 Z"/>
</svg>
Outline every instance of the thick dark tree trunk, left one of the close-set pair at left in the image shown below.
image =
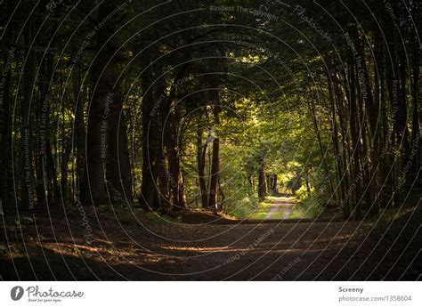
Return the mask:
<svg viewBox="0 0 422 307">
<path fill-rule="evenodd" d="M 98 20 L 107 20 L 111 12 L 116 9 L 116 4 L 104 2 L 98 9 Z M 109 18 L 110 19 L 110 18 Z M 118 90 L 115 78 L 118 76 L 118 44 L 110 33 L 114 33 L 113 20 L 109 20 L 99 27 L 95 42 L 95 59 L 91 67 L 92 97 L 88 108 L 87 142 L 86 142 L 86 168 L 85 168 L 85 203 L 93 206 L 107 202 L 106 169 L 108 166 L 109 133 L 115 129 L 118 122 L 110 119 L 110 109 L 118 101 Z M 111 155 L 115 157 L 113 151 Z M 86 193 L 88 192 L 88 193 Z"/>
</svg>

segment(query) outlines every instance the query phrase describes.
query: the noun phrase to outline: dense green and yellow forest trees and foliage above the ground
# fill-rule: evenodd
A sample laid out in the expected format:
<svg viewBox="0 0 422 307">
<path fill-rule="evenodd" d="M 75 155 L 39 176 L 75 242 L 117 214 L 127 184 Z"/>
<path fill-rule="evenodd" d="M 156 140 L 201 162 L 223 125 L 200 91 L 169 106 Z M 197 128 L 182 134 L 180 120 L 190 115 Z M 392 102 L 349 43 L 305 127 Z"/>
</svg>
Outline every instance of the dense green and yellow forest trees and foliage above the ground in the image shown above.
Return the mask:
<svg viewBox="0 0 422 307">
<path fill-rule="evenodd" d="M 361 219 L 420 186 L 418 2 L 5 0 L 0 198 Z"/>
</svg>

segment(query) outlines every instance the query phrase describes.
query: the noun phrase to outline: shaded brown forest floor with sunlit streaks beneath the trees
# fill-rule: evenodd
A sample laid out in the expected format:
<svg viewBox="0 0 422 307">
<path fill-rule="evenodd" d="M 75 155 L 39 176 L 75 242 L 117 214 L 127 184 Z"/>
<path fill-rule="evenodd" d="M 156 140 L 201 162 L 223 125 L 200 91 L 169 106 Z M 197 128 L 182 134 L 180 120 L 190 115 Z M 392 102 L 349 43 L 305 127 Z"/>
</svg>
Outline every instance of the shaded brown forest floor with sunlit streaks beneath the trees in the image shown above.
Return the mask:
<svg viewBox="0 0 422 307">
<path fill-rule="evenodd" d="M 187 211 L 177 218 L 134 207 L 55 209 L 20 222 L 3 216 L 4 280 L 365 280 L 421 278 L 421 210 L 391 222 L 325 215 L 282 220 Z M 405 225 L 405 227 L 403 227 Z M 5 231 L 4 231 L 5 230 Z M 10 256 L 12 254 L 12 258 Z M 28 255 L 30 255 L 28 257 Z"/>
</svg>

